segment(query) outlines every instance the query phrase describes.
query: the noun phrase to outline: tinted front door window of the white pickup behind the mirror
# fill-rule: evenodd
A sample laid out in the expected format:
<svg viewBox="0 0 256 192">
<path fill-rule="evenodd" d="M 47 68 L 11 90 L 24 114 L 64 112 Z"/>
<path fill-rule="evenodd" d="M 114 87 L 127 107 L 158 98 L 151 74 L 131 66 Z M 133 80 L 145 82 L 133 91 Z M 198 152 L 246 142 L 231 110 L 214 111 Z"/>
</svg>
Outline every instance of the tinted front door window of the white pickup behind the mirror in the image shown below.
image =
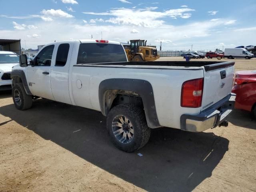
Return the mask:
<svg viewBox="0 0 256 192">
<path fill-rule="evenodd" d="M 43 48 L 42 51 L 36 56 L 35 65 L 36 66 L 51 66 L 52 53 L 54 45 L 49 45 Z"/>
</svg>

